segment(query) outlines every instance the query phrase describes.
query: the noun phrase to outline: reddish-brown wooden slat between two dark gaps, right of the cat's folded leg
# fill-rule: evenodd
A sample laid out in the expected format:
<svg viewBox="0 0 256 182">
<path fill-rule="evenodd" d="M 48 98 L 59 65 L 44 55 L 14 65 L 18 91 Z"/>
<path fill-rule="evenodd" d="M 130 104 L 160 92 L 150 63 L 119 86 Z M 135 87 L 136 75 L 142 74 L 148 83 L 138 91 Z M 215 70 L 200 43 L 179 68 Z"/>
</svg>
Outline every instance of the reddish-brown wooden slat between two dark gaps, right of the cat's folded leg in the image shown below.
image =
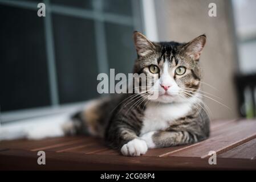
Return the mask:
<svg viewBox="0 0 256 182">
<path fill-rule="evenodd" d="M 233 122 L 229 126 L 217 130 L 214 137 L 204 140 L 196 146 L 173 152 L 168 156 L 206 158 L 209 151 L 216 151 L 217 154 L 221 154 L 254 138 L 256 138 L 255 121 Z"/>
</svg>

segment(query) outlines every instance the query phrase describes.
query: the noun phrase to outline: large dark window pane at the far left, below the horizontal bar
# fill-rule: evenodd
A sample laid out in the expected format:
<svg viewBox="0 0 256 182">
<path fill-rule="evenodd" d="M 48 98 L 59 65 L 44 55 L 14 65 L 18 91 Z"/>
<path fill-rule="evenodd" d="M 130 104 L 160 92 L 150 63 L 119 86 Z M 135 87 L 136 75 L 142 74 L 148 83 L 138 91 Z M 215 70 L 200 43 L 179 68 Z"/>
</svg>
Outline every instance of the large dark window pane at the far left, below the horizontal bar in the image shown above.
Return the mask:
<svg viewBox="0 0 256 182">
<path fill-rule="evenodd" d="M 43 18 L 0 6 L 1 110 L 50 105 Z"/>
</svg>

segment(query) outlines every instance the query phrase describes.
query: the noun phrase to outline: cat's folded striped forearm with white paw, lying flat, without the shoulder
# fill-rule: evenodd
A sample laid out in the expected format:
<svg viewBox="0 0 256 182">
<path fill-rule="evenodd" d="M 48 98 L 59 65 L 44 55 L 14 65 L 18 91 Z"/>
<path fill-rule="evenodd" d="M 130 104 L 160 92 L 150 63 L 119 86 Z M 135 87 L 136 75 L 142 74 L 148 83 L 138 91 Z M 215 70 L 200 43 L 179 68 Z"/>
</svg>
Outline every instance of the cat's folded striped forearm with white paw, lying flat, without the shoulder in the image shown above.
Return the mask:
<svg viewBox="0 0 256 182">
<path fill-rule="evenodd" d="M 188 131 L 151 131 L 141 136 L 148 148 L 178 146 L 198 142 L 198 136 Z"/>
</svg>

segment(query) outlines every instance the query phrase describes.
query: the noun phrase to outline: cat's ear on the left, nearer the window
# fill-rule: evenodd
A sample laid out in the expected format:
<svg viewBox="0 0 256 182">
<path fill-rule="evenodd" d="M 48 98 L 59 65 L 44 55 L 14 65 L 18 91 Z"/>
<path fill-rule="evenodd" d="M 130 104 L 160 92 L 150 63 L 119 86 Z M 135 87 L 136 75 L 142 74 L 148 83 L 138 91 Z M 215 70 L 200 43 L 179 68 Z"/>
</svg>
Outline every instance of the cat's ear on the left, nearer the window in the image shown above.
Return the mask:
<svg viewBox="0 0 256 182">
<path fill-rule="evenodd" d="M 143 57 L 155 51 L 155 46 L 145 35 L 140 32 L 133 32 L 133 41 L 136 47 L 137 55 Z"/>
</svg>

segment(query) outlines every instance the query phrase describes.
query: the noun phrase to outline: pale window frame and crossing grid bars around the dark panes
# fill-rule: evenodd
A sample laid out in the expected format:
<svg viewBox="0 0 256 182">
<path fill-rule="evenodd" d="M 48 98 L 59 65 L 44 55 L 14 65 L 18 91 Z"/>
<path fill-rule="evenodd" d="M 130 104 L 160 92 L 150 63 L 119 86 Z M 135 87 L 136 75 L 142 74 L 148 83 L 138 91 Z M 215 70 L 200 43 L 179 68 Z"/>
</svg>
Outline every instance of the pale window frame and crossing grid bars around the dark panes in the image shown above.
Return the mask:
<svg viewBox="0 0 256 182">
<path fill-rule="evenodd" d="M 52 30 L 51 14 L 62 14 L 73 17 L 92 19 L 95 21 L 96 34 L 96 52 L 99 72 L 108 72 L 107 49 L 105 44 L 104 22 L 112 22 L 133 26 L 135 30 L 145 32 L 150 39 L 157 41 L 157 27 L 154 0 L 132 0 L 132 17 L 113 13 L 104 13 L 101 10 L 103 0 L 94 0 L 97 6 L 92 10 L 64 5 L 50 4 L 49 0 L 44 0 L 46 5 L 46 17 L 44 18 L 44 33 L 46 35 L 46 56 L 48 65 L 48 76 L 50 85 L 51 105 L 44 107 L 35 107 L 31 109 L 21 109 L 14 111 L 1 112 L 0 105 L 0 125 L 14 121 L 25 121 L 26 119 L 44 117 L 53 114 L 72 113 L 82 108 L 88 101 L 74 102 L 72 104 L 59 104 L 58 101 L 58 82 L 56 78 L 55 48 Z M 39 3 L 39 2 L 38 2 Z M 29 1 L 8 1 L 0 0 L 0 5 L 15 6 L 22 9 L 38 10 L 37 2 Z M 100 7 L 101 6 L 101 7 Z M 151 22 L 151 23 L 149 23 Z M 104 43 L 102 43 L 104 42 Z"/>
</svg>

